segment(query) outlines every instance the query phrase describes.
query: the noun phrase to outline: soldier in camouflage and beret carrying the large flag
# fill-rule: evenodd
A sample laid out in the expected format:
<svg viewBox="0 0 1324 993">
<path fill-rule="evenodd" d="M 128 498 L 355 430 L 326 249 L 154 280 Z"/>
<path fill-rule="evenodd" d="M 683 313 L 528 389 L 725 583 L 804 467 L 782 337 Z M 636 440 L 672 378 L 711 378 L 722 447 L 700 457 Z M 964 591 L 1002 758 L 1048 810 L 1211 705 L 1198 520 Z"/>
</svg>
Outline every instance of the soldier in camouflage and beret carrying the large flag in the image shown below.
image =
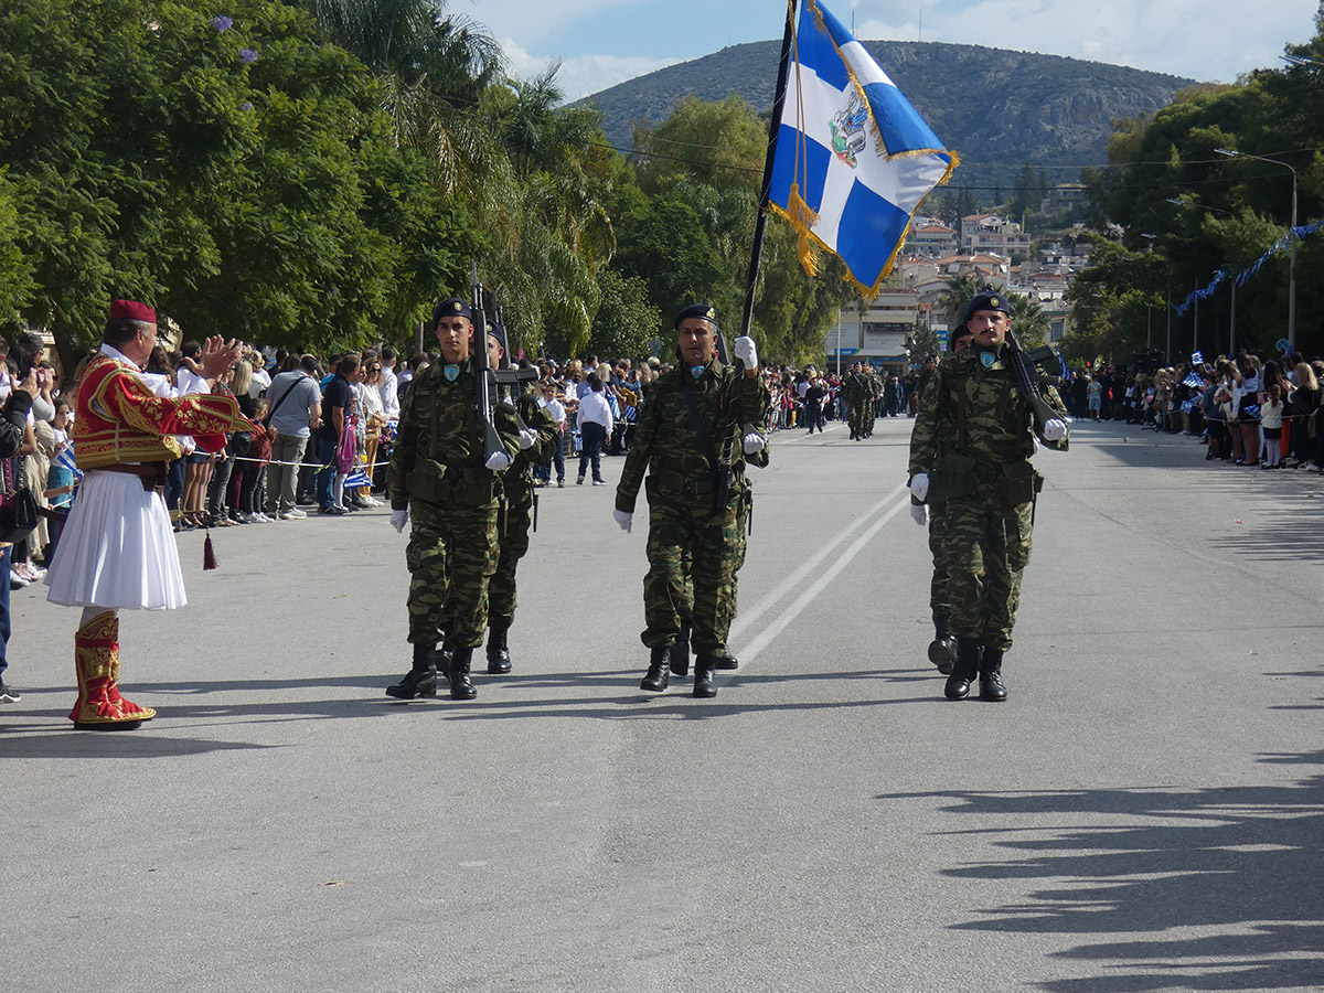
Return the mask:
<svg viewBox="0 0 1324 993">
<path fill-rule="evenodd" d="M 681 361 L 658 377 L 639 412 L 634 444 L 616 490 L 616 522 L 630 531 L 643 474 L 649 499 L 649 571 L 642 634 L 649 671 L 641 688 L 661 692 L 681 634 L 686 575 L 692 577 L 694 695 L 716 696 L 712 674 L 735 616 L 744 457 L 763 451 L 769 395 L 753 340 L 732 343 L 744 373 L 716 357 L 716 315 L 707 305 L 675 319 Z M 733 434 L 732 434 L 733 433 Z M 730 453 L 730 470 L 726 457 Z M 728 475 L 730 473 L 730 475 Z M 686 553 L 691 567 L 685 565 Z"/>
</svg>

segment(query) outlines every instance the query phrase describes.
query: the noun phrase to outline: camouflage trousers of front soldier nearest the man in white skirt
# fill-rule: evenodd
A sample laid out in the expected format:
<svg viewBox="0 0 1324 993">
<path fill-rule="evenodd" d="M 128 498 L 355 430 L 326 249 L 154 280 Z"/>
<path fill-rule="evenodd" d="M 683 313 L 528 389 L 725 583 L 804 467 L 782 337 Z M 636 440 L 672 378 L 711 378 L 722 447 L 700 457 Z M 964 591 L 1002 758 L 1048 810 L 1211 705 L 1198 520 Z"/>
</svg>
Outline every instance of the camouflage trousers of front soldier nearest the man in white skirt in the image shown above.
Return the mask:
<svg viewBox="0 0 1324 993">
<path fill-rule="evenodd" d="M 438 507 L 410 500 L 409 642 L 434 645 L 449 634 L 478 647 L 487 629 L 487 584 L 496 571 L 496 500 Z"/>
</svg>

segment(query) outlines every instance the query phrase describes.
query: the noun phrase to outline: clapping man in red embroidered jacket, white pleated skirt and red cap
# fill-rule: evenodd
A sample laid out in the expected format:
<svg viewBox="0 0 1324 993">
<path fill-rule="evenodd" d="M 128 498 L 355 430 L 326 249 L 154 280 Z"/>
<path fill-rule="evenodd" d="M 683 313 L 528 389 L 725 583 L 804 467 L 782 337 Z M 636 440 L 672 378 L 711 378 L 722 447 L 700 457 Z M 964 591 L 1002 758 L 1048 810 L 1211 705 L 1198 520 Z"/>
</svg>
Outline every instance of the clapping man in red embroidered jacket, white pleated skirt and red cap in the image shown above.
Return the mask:
<svg viewBox="0 0 1324 993">
<path fill-rule="evenodd" d="M 187 602 L 158 491 L 180 455 L 173 436 L 249 429 L 233 396 L 156 396 L 139 377 L 155 346 L 156 311 L 115 301 L 99 354 L 78 383 L 73 441 L 85 477 L 46 575 L 50 602 L 83 608 L 74 636 L 78 700 L 69 714 L 78 728 L 136 728 L 156 716 L 119 695 L 119 612 Z M 203 377 L 214 385 L 240 351 L 234 342 L 208 340 Z"/>
</svg>

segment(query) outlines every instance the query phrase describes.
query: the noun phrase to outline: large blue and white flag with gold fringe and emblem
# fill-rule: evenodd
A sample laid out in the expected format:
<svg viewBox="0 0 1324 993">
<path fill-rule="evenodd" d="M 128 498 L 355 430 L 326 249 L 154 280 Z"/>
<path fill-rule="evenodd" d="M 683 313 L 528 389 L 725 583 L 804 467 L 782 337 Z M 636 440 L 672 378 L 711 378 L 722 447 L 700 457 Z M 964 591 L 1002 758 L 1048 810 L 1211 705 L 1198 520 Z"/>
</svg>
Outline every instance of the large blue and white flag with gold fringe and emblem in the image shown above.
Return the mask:
<svg viewBox="0 0 1324 993">
<path fill-rule="evenodd" d="M 873 298 L 959 160 L 818 0 L 804 0 L 790 56 L 769 201 L 798 232 L 806 273 L 825 249 Z"/>
</svg>

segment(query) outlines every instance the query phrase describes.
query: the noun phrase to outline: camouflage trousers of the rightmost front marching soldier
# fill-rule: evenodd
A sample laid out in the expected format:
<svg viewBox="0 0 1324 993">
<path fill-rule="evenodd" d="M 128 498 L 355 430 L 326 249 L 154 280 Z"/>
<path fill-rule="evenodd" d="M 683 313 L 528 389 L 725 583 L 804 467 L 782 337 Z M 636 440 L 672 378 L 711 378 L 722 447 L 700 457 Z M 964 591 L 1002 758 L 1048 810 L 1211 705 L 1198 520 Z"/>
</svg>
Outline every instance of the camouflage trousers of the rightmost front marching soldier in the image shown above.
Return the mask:
<svg viewBox="0 0 1324 993">
<path fill-rule="evenodd" d="M 1009 506 L 980 487 L 947 502 L 947 596 L 952 634 L 1006 651 L 1030 561 L 1034 504 Z"/>
</svg>

